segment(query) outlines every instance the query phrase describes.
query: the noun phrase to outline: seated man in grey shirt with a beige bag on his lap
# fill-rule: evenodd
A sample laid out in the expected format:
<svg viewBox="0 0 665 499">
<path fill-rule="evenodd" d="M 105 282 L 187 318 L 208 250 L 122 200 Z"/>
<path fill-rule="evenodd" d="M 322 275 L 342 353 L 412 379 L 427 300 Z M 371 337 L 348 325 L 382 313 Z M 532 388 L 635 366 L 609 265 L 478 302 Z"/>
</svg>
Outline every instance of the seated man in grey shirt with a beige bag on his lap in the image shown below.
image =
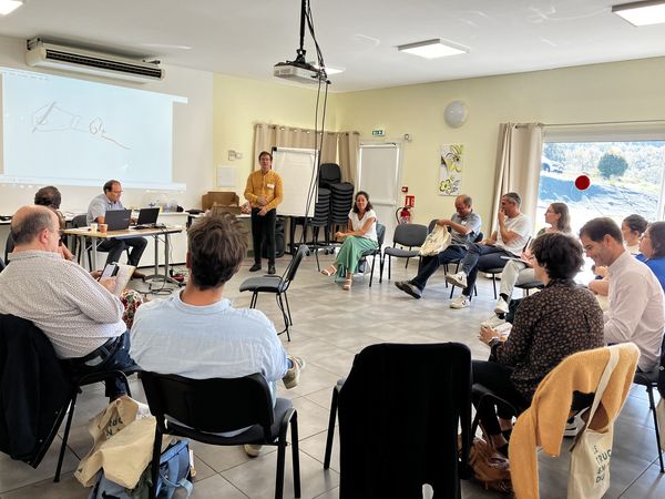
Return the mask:
<svg viewBox="0 0 665 499">
<path fill-rule="evenodd" d="M 446 249 L 436 256 L 424 256 L 418 275 L 411 281 L 399 281 L 395 285 L 411 295 L 413 298 L 420 298 L 427 281 L 432 276 L 439 265 L 446 265 L 450 262 L 458 262 L 467 255 L 467 244 L 472 243 L 480 233 L 481 220 L 472 206 L 471 197 L 462 194 L 454 200 L 454 210 L 450 218 L 437 221 L 437 225 L 450 230 L 451 243 Z"/>
</svg>

